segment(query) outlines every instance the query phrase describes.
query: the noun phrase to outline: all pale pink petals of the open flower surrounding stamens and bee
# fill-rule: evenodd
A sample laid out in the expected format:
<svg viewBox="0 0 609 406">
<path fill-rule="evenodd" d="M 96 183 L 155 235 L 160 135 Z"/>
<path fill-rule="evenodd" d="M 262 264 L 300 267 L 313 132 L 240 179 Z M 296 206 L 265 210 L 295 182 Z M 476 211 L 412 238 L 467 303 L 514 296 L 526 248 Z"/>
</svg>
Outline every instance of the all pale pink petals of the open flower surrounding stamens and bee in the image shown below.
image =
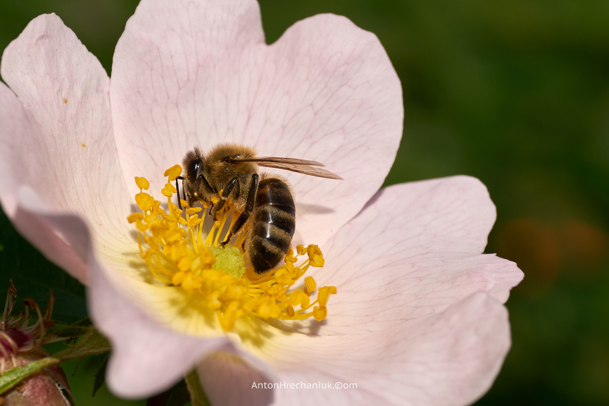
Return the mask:
<svg viewBox="0 0 609 406">
<path fill-rule="evenodd" d="M 460 405 L 490 387 L 510 346 L 502 303 L 522 273 L 481 254 L 495 206 L 476 179 L 378 191 L 403 107 L 375 35 L 317 15 L 267 46 L 253 0 L 142 0 L 111 80 L 55 15 L 30 22 L 0 73 L 2 208 L 87 285 L 113 343 L 114 393 L 149 396 L 195 365 L 213 405 Z M 134 178 L 158 199 L 164 170 L 219 142 L 344 178 L 281 173 L 292 244 L 318 245 L 325 265 L 307 275 L 336 287 L 325 320 L 244 315 L 248 329 L 223 328 L 141 257 Z M 301 382 L 326 389 L 289 388 Z"/>
</svg>

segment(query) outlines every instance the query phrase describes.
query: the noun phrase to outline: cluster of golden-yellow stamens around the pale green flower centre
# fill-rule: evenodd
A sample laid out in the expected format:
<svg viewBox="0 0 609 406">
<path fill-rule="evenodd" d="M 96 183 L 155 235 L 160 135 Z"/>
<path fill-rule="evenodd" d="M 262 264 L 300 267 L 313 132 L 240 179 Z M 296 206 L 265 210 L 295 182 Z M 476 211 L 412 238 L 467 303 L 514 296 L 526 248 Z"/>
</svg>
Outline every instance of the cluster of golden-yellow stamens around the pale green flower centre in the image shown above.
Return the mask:
<svg viewBox="0 0 609 406">
<path fill-rule="evenodd" d="M 323 267 L 322 251 L 317 245 L 298 245 L 296 253 L 290 247 L 283 266 L 265 275 L 256 274 L 243 250 L 247 223 L 233 237 L 232 243 L 220 246 L 239 217 L 233 206 L 225 205 L 217 215 L 217 221 L 206 231 L 207 203 L 201 201 L 203 209 L 186 208 L 185 212 L 171 203 L 171 197 L 177 193 L 171 182 L 180 174 L 179 165 L 164 173 L 167 183 L 161 194 L 167 197 L 168 212 L 160 207 L 160 201 L 144 192 L 149 188 L 149 182 L 135 177 L 139 187 L 135 202 L 143 213 L 130 214 L 127 220 L 135 223 L 141 257 L 155 278 L 167 286 L 181 287 L 215 310 L 225 331 L 231 331 L 235 320 L 245 315 L 284 320 L 314 317 L 320 321 L 326 318 L 326 303 L 329 295 L 336 293 L 336 287 L 324 286 L 317 290 L 312 276 L 307 276 L 304 283 L 298 283 L 309 267 Z M 184 200 L 181 205 L 188 206 Z M 207 218 L 211 219 L 211 216 Z M 299 256 L 303 256 L 303 261 L 297 264 Z M 311 294 L 315 290 L 317 298 L 312 300 Z"/>
</svg>

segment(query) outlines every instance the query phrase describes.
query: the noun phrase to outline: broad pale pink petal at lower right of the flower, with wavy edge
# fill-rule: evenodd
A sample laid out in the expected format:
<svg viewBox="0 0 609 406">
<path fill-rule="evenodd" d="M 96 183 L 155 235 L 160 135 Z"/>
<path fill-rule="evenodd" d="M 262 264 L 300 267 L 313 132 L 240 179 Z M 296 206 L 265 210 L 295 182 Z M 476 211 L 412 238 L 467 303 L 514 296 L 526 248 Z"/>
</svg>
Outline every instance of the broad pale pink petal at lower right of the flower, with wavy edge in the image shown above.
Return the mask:
<svg viewBox="0 0 609 406">
<path fill-rule="evenodd" d="M 474 178 L 382 190 L 323 247 L 326 265 L 312 271 L 318 286 L 338 289 L 328 318 L 272 321 L 292 334 L 248 348 L 283 371 L 281 380 L 365 385 L 311 391 L 312 401 L 300 404 L 326 396 L 333 404 L 473 401 L 509 348 L 501 303 L 522 278 L 512 262 L 480 254 L 494 220 L 488 192 Z M 298 404 L 290 391 L 275 395 L 277 404 Z"/>
</svg>

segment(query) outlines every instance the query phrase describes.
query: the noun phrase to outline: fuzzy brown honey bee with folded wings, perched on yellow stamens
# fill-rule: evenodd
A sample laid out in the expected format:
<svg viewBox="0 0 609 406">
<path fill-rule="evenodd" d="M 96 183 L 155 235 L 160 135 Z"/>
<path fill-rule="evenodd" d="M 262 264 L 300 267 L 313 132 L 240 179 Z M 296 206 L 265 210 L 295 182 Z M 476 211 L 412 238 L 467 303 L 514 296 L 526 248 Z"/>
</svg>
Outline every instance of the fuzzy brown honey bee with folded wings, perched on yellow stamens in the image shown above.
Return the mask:
<svg viewBox="0 0 609 406">
<path fill-rule="evenodd" d="M 272 174 L 259 175 L 258 166 L 342 179 L 329 170 L 313 167 L 323 166 L 317 161 L 256 156 L 255 150 L 239 144 L 219 144 L 205 155 L 195 147 L 186 153 L 182 165 L 186 177 L 177 179 L 182 181 L 183 197 L 189 206 L 202 201 L 209 206 L 208 214 L 214 221 L 227 201 L 241 213 L 222 246 L 245 226 L 249 235 L 243 248 L 258 274 L 279 264 L 290 248 L 296 227 L 294 197 L 286 180 Z M 179 198 L 178 206 L 181 209 Z"/>
</svg>

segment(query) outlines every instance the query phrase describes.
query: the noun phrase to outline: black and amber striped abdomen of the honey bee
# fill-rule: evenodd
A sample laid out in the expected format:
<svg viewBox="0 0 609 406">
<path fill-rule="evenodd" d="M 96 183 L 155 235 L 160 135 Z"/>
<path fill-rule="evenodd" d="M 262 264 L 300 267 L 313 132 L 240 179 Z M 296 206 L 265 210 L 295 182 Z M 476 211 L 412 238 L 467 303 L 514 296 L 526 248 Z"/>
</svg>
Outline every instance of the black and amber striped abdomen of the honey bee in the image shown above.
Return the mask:
<svg viewBox="0 0 609 406">
<path fill-rule="evenodd" d="M 294 198 L 278 178 L 260 181 L 252 212 L 247 252 L 256 273 L 263 273 L 286 255 L 296 227 Z"/>
</svg>

